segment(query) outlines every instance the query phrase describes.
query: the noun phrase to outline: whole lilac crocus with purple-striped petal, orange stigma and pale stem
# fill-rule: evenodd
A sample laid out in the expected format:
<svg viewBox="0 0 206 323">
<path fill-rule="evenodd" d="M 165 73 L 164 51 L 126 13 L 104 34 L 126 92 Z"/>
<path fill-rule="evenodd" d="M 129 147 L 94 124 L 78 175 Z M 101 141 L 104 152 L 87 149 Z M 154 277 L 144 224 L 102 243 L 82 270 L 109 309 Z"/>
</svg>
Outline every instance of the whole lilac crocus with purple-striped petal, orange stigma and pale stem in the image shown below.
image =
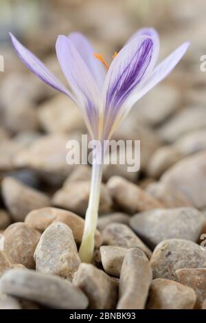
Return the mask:
<svg viewBox="0 0 206 323">
<path fill-rule="evenodd" d="M 23 63 L 41 80 L 76 103 L 89 134 L 101 142 L 111 138 L 137 100 L 170 74 L 189 46 L 188 42 L 183 43 L 157 65 L 159 36 L 153 28 L 142 28 L 129 38 L 109 66 L 102 55 L 94 54 L 82 34 L 60 35 L 56 41 L 56 54 L 69 83 L 68 89 L 34 54 L 12 34 L 10 36 Z M 101 181 L 102 164 L 95 163 L 79 251 L 84 262 L 90 262 L 93 256 Z"/>
</svg>

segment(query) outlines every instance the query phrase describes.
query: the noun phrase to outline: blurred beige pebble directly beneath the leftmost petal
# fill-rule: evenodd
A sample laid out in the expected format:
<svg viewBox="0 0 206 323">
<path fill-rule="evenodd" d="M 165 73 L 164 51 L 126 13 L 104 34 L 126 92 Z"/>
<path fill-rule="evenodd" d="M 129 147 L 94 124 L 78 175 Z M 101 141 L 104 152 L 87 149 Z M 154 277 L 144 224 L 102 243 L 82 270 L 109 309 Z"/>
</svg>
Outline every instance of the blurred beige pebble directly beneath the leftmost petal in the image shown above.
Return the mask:
<svg viewBox="0 0 206 323">
<path fill-rule="evenodd" d="M 47 133 L 69 133 L 86 130 L 76 104 L 62 94 L 43 102 L 38 107 L 38 120 Z"/>
</svg>

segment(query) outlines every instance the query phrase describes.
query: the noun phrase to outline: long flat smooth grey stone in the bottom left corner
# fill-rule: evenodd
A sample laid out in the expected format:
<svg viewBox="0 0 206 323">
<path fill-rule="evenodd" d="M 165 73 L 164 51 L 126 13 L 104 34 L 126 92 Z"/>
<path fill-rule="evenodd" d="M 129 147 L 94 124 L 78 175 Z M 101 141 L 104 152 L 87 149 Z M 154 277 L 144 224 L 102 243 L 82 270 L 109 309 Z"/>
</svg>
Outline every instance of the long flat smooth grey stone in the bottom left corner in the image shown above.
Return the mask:
<svg viewBox="0 0 206 323">
<path fill-rule="evenodd" d="M 84 293 L 68 280 L 34 270 L 6 271 L 0 280 L 0 291 L 53 309 L 86 309 L 88 305 Z"/>
</svg>

